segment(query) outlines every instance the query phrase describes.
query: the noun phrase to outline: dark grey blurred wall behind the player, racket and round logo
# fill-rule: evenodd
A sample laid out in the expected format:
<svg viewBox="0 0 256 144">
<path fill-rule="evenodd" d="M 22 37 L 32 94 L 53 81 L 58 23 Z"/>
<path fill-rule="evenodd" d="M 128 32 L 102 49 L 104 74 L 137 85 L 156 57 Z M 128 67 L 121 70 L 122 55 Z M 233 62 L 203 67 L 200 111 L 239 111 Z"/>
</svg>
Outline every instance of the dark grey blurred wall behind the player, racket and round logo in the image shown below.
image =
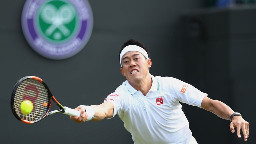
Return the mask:
<svg viewBox="0 0 256 144">
<path fill-rule="evenodd" d="M 230 121 L 182 104 L 199 144 L 255 143 L 255 0 L 88 1 L 94 18 L 91 37 L 78 54 L 63 60 L 45 58 L 27 43 L 21 28 L 25 0 L 1 2 L 1 143 L 133 143 L 118 116 L 75 123 L 56 114 L 29 125 L 18 121 L 10 107 L 15 83 L 27 75 L 42 78 L 70 108 L 102 103 L 126 80 L 118 51 L 131 38 L 149 48 L 152 75 L 190 83 L 250 123 L 244 142 L 230 132 Z"/>
</svg>

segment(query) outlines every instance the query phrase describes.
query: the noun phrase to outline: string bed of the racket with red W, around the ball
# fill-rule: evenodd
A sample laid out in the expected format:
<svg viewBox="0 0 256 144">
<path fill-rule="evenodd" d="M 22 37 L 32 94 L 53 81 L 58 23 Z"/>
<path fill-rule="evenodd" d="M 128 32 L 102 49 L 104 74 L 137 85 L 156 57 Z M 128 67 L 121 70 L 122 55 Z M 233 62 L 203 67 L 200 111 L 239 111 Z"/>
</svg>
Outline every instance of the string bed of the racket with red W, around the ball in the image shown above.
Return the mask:
<svg viewBox="0 0 256 144">
<path fill-rule="evenodd" d="M 20 111 L 20 104 L 24 100 L 30 100 L 33 103 L 33 110 L 27 115 L 24 115 Z M 42 83 L 34 79 L 26 79 L 21 82 L 15 92 L 14 108 L 16 114 L 21 119 L 37 121 L 45 116 L 49 101 L 48 91 Z"/>
</svg>

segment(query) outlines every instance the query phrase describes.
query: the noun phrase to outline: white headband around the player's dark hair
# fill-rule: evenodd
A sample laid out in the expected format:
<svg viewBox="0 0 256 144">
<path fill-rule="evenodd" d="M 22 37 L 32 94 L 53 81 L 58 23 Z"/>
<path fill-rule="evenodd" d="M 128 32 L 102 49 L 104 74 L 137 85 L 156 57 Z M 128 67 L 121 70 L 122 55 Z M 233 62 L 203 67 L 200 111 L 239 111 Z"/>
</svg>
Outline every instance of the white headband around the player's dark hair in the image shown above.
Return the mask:
<svg viewBox="0 0 256 144">
<path fill-rule="evenodd" d="M 140 52 L 141 54 L 143 54 L 148 59 L 148 53 L 145 51 L 145 49 L 143 49 L 143 48 L 141 48 L 141 47 L 139 47 L 137 45 L 128 45 L 128 46 L 124 47 L 124 49 L 120 53 L 119 59 L 120 59 L 121 67 L 122 67 L 122 57 L 123 57 L 124 54 L 126 54 L 129 51 Z"/>
</svg>

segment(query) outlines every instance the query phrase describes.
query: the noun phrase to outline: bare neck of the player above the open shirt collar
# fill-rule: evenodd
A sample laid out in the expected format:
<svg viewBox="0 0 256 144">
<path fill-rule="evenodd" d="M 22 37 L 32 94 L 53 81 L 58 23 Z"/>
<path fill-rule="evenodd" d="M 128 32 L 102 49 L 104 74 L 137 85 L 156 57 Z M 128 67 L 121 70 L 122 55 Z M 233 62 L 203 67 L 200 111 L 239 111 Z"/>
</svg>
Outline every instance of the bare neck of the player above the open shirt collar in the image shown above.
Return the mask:
<svg viewBox="0 0 256 144">
<path fill-rule="evenodd" d="M 142 92 L 144 96 L 148 93 L 152 86 L 152 78 L 150 74 L 147 74 L 143 79 L 138 81 L 128 81 L 129 84 L 134 87 L 136 90 L 139 90 Z"/>
</svg>

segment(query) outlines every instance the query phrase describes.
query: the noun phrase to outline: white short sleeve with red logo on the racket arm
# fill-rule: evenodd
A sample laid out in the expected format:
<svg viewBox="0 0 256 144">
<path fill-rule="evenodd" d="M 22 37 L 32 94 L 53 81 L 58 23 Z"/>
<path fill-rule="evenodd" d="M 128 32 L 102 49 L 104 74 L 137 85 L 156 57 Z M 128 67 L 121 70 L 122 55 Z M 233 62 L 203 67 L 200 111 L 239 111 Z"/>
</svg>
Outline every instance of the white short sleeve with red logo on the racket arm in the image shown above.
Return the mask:
<svg viewBox="0 0 256 144">
<path fill-rule="evenodd" d="M 110 102 L 114 105 L 113 117 L 116 114 L 120 115 L 123 113 L 123 106 L 122 106 L 123 102 L 122 102 L 122 98 L 121 98 L 121 93 L 113 92 L 113 93 L 109 94 L 107 96 L 107 98 L 104 100 L 104 102 L 106 102 L 106 101 Z"/>
</svg>

